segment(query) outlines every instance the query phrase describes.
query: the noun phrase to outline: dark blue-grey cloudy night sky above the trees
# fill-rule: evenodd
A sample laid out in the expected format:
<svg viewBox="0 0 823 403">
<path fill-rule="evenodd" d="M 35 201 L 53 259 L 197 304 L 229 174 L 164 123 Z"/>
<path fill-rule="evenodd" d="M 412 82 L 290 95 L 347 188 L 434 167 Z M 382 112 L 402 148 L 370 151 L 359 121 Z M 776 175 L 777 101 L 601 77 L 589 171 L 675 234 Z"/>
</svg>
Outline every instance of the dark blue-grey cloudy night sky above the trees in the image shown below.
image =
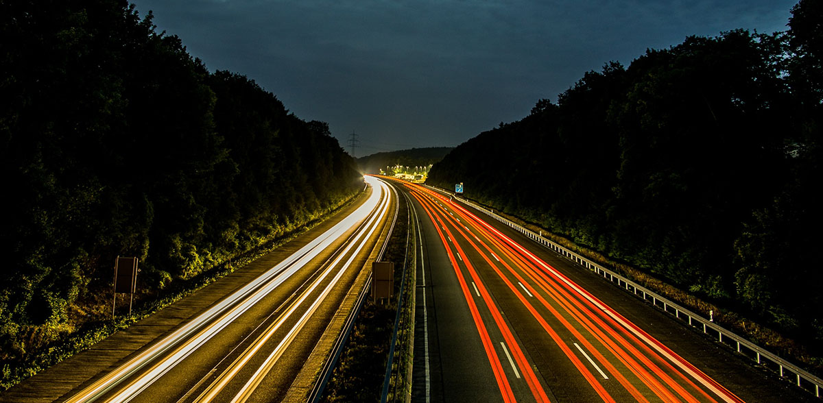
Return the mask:
<svg viewBox="0 0 823 403">
<path fill-rule="evenodd" d="M 797 0 L 137 0 L 209 70 L 257 81 L 356 156 L 457 146 L 589 70 L 688 35 L 786 30 Z"/>
</svg>

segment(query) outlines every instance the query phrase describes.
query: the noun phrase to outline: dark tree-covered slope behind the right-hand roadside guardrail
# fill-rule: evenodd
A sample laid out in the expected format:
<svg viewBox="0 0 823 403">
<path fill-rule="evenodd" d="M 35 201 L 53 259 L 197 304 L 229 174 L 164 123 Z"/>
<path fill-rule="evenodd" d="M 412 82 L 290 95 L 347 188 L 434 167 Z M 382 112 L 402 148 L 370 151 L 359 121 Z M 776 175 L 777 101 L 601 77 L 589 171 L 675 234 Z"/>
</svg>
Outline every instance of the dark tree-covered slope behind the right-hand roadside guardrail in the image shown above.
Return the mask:
<svg viewBox="0 0 823 403">
<path fill-rule="evenodd" d="M 823 353 L 823 2 L 587 72 L 429 183 L 770 322 Z M 816 346 L 816 347 L 815 347 Z"/>
</svg>

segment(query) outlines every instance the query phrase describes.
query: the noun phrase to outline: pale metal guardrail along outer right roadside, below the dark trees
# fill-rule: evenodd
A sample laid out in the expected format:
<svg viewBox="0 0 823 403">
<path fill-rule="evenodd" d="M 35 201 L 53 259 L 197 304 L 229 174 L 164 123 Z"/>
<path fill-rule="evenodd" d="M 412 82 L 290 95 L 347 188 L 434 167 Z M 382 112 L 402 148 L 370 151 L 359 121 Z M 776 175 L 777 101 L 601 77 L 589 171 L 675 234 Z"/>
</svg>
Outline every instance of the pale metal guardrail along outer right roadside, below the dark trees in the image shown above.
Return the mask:
<svg viewBox="0 0 823 403">
<path fill-rule="evenodd" d="M 428 185 L 425 185 L 427 188 L 431 188 L 433 190 L 439 192 L 447 192 L 444 189 L 434 188 Z M 458 197 L 455 197 L 458 198 Z M 728 345 L 730 348 L 735 348 L 738 353 L 744 354 L 747 357 L 755 360 L 757 364 L 764 366 L 765 368 L 769 368 L 770 370 L 774 371 L 775 373 L 779 373 L 780 378 L 787 378 L 789 374 L 793 374 L 796 382 L 793 382 L 797 385 L 797 387 L 801 387 L 803 390 L 808 391 L 814 394 L 817 397 L 821 397 L 821 389 L 823 389 L 823 379 L 817 378 L 815 375 L 807 372 L 806 370 L 797 367 L 797 365 L 789 363 L 787 360 L 780 358 L 778 355 L 771 353 L 768 350 L 763 349 L 759 345 L 754 344 L 750 340 L 746 340 L 742 336 L 737 336 L 732 331 L 725 329 L 724 327 L 718 326 L 717 323 L 712 322 L 710 319 L 706 319 L 702 315 L 698 313 L 694 313 L 689 309 L 683 308 L 681 305 L 672 302 L 672 300 L 663 297 L 660 294 L 655 293 L 652 290 L 645 288 L 642 285 L 635 283 L 632 280 L 626 279 L 625 277 L 617 274 L 614 271 L 607 269 L 595 262 L 592 262 L 586 257 L 582 257 L 577 253 L 570 251 L 568 248 L 564 248 L 557 243 L 550 241 L 549 239 L 545 239 L 542 237 L 542 234 L 536 234 L 530 229 L 523 228 L 522 226 L 512 222 L 511 220 L 507 220 L 500 215 L 496 215 L 493 211 L 488 210 L 482 206 L 478 206 L 473 202 L 469 202 L 466 199 L 458 198 L 460 202 L 465 203 L 467 206 L 471 206 L 472 208 L 476 209 L 477 211 L 482 211 L 486 215 L 491 216 L 495 220 L 498 220 L 505 225 L 509 225 L 509 227 L 517 230 L 523 235 L 526 235 L 528 238 L 534 240 L 537 243 L 540 243 L 546 248 L 551 249 L 554 252 L 557 252 L 563 257 L 570 259 L 572 262 L 579 264 L 580 266 L 584 266 L 591 271 L 594 271 L 600 276 L 603 276 L 604 279 L 610 280 L 611 282 L 616 282 L 618 286 L 621 288 L 625 288 L 627 292 L 634 293 L 638 298 L 642 298 L 644 301 L 651 302 L 652 305 L 658 308 L 662 308 L 663 311 L 672 314 L 673 316 L 683 320 L 684 322 L 688 322 L 691 327 L 703 327 L 703 332 L 707 335 L 718 337 L 718 341 L 721 343 Z M 788 374 L 787 374 L 788 373 Z"/>
</svg>

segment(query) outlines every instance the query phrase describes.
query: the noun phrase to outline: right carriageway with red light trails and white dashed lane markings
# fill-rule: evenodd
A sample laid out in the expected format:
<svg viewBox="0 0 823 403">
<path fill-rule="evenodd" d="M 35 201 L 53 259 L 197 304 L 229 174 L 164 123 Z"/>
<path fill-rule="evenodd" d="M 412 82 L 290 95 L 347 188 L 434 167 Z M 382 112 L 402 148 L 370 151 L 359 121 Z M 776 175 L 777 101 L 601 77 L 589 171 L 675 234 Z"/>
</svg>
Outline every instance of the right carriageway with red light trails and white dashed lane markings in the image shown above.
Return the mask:
<svg viewBox="0 0 823 403">
<path fill-rule="evenodd" d="M 422 229 L 412 401 L 811 401 L 448 195 L 393 183 Z"/>
</svg>

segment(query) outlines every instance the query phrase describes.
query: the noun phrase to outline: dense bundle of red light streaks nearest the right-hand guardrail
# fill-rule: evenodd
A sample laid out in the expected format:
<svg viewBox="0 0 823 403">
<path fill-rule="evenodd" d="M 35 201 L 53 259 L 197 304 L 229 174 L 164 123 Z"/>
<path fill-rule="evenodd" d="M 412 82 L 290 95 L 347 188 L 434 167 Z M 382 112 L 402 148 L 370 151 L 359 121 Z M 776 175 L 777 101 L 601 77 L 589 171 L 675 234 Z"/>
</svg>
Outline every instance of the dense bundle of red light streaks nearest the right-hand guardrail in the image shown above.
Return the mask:
<svg viewBox="0 0 823 403">
<path fill-rule="evenodd" d="M 676 373 L 677 376 L 683 380 L 683 382 L 685 382 L 689 387 L 693 387 L 699 395 L 702 395 L 709 401 L 714 401 L 714 399 L 709 396 L 704 389 L 697 387 L 697 385 L 691 381 L 692 378 L 697 380 L 697 382 L 700 382 L 703 387 L 709 391 L 712 391 L 716 396 L 719 396 L 723 399 L 723 401 L 740 401 L 737 396 L 734 396 L 732 392 L 720 386 L 714 381 L 714 379 L 709 378 L 707 375 L 700 372 L 700 370 L 695 368 L 694 365 L 688 363 L 685 359 L 682 359 L 679 355 L 675 354 L 658 340 L 653 339 L 652 336 L 649 336 L 648 333 L 642 329 L 639 329 L 639 327 L 636 327 L 619 313 L 616 313 L 616 311 L 608 307 L 605 303 L 602 303 L 592 294 L 580 288 L 579 285 L 574 284 L 573 281 L 561 275 L 553 267 L 547 265 L 546 262 L 542 262 L 542 260 L 537 258 L 532 252 L 529 252 L 527 249 L 514 242 L 514 240 L 504 234 L 501 234 L 499 230 L 495 229 L 485 221 L 478 219 L 477 216 L 466 211 L 466 209 L 462 206 L 459 206 L 453 202 L 448 202 L 444 197 L 440 197 L 436 193 L 420 187 L 408 186 L 408 188 L 411 188 L 413 192 L 421 192 L 422 194 L 425 194 L 426 197 L 435 197 L 435 199 L 442 200 L 445 204 L 451 206 L 453 211 L 458 213 L 454 215 L 453 220 L 459 220 L 457 216 L 460 215 L 460 218 L 462 218 L 463 221 L 459 222 L 463 224 L 461 225 L 463 228 L 467 228 L 465 223 L 472 223 L 471 225 L 475 226 L 479 233 L 490 239 L 492 244 L 496 245 L 497 248 L 500 248 L 502 253 L 518 266 L 518 270 L 524 271 L 532 281 L 534 281 L 543 291 L 546 292 L 546 294 L 551 297 L 553 301 L 555 301 L 555 303 L 565 309 L 566 314 L 570 315 L 575 321 L 579 322 L 580 326 L 582 326 L 586 331 L 591 332 L 594 338 L 602 343 L 606 350 L 608 350 L 611 354 L 614 354 L 616 359 L 618 359 L 621 364 L 624 364 L 625 368 L 628 368 L 630 372 L 634 373 L 639 380 L 648 386 L 650 391 L 653 391 L 656 395 L 658 395 L 658 398 L 663 399 L 664 401 L 677 401 L 677 397 L 672 394 L 673 391 L 686 401 L 697 401 L 695 397 L 690 394 L 690 392 L 686 391 L 684 387 L 675 382 L 675 380 L 669 375 L 669 373 Z M 450 215 L 451 214 L 445 215 L 444 219 L 451 218 Z M 462 230 L 460 230 L 456 224 L 455 228 L 458 229 L 458 232 L 462 233 Z M 625 379 L 620 371 L 611 365 L 611 363 L 602 354 L 600 354 L 600 352 L 590 342 L 588 342 L 588 340 L 586 340 L 579 333 L 579 331 L 577 331 L 576 327 L 572 326 L 571 323 L 565 319 L 563 314 L 560 314 L 559 311 L 552 308 L 550 303 L 548 303 L 545 299 L 542 299 L 541 296 L 537 295 L 532 286 L 518 274 L 518 271 L 516 271 L 512 266 L 509 266 L 506 262 L 501 262 L 497 255 L 494 252 L 491 252 L 491 247 L 489 245 L 477 238 L 477 235 L 472 235 L 473 238 L 477 239 L 478 243 L 480 243 L 481 246 L 491 254 L 491 257 L 494 257 L 495 261 L 500 262 L 513 276 L 517 277 L 517 282 L 520 289 L 525 291 L 527 294 L 530 294 L 530 296 L 532 296 L 531 294 L 533 293 L 533 296 L 536 296 L 540 303 L 545 308 L 550 310 L 553 316 L 561 322 L 563 327 L 571 331 L 574 337 L 577 338 L 583 345 L 586 345 L 586 348 L 595 355 L 601 364 L 606 365 L 609 372 L 616 374 L 616 378 L 619 382 L 621 382 L 621 384 L 628 391 L 630 391 L 636 400 L 648 401 L 644 396 L 639 394 L 639 391 L 637 391 L 631 382 Z M 458 247 L 458 243 L 454 243 L 454 245 L 455 247 Z M 546 331 L 549 331 L 550 334 L 553 333 L 551 327 L 547 327 L 546 323 L 542 320 L 542 316 L 538 314 L 534 308 L 532 308 L 531 304 L 528 303 L 526 299 L 524 299 L 523 295 L 520 294 L 519 289 L 505 278 L 503 272 L 500 271 L 500 269 L 488 258 L 486 258 L 486 255 L 481 252 L 480 248 L 477 248 L 477 246 L 473 243 L 472 247 L 477 249 L 477 252 L 481 253 L 481 256 L 486 259 L 486 262 L 489 263 L 500 278 L 504 280 L 504 282 L 509 286 L 509 289 L 518 296 L 518 299 L 523 302 L 524 306 L 532 313 L 537 321 L 541 322 L 544 328 L 546 328 Z M 518 255 L 523 256 L 523 259 L 518 257 Z M 538 267 L 540 267 L 541 270 L 538 270 Z M 600 318 L 601 316 L 603 319 Z M 615 331 L 615 329 L 620 331 L 620 333 Z M 625 337 L 628 337 L 628 340 L 625 339 L 624 335 Z M 552 338 L 555 338 L 554 334 L 551 336 Z M 556 339 L 556 342 L 560 346 L 561 350 L 564 350 L 564 352 L 568 350 L 568 347 L 565 347 L 565 343 L 561 343 L 559 339 Z M 642 353 L 640 350 L 635 348 L 632 343 L 639 345 L 641 350 L 644 350 L 645 353 Z M 584 354 L 589 363 L 597 368 L 597 371 L 601 374 L 601 376 L 607 378 L 606 373 L 603 372 L 599 366 L 597 366 L 595 360 L 586 354 L 580 345 L 577 343 L 574 343 L 574 345 L 578 348 L 578 350 L 580 350 L 581 353 Z M 567 352 L 567 355 L 569 353 L 570 351 Z M 574 354 L 571 355 L 574 356 Z M 632 357 L 638 359 L 639 362 L 635 361 Z M 570 359 L 572 359 L 572 357 L 570 357 Z M 574 356 L 572 361 L 574 362 L 575 360 L 579 361 L 576 356 Z M 668 372 L 664 371 L 663 368 L 659 368 L 658 364 L 655 364 L 653 360 L 662 363 L 663 367 L 665 367 Z M 575 363 L 575 365 L 577 364 Z M 677 366 L 679 370 L 677 370 L 675 366 Z M 581 373 L 586 376 L 588 369 L 585 371 L 581 369 Z M 602 394 L 604 391 L 602 391 L 602 387 L 599 383 L 593 382 L 593 379 L 590 379 L 589 381 L 589 383 L 598 390 L 598 393 L 601 393 L 601 397 L 604 400 L 609 399 L 608 396 L 604 396 Z"/>
</svg>

